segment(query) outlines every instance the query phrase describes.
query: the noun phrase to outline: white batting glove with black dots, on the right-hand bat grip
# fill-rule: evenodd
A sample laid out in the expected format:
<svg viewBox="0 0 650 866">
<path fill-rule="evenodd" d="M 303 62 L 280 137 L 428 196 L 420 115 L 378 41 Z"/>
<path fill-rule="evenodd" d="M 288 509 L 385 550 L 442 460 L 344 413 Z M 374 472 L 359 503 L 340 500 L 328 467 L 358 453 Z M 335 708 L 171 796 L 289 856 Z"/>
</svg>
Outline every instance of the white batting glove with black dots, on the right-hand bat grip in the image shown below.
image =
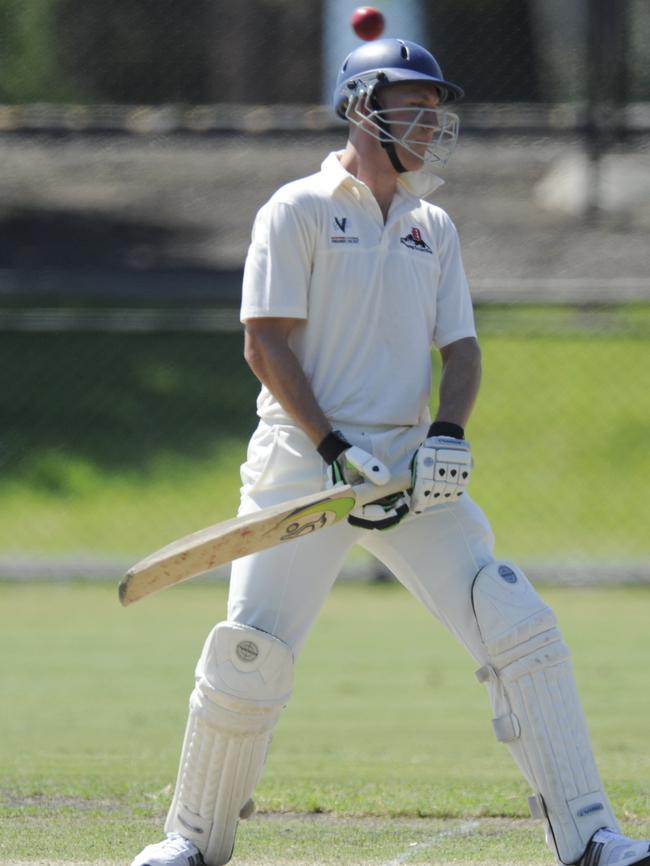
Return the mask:
<svg viewBox="0 0 650 866">
<path fill-rule="evenodd" d="M 451 436 L 425 439 L 411 461 L 411 510 L 420 513 L 463 495 L 472 471 L 469 443 Z"/>
</svg>

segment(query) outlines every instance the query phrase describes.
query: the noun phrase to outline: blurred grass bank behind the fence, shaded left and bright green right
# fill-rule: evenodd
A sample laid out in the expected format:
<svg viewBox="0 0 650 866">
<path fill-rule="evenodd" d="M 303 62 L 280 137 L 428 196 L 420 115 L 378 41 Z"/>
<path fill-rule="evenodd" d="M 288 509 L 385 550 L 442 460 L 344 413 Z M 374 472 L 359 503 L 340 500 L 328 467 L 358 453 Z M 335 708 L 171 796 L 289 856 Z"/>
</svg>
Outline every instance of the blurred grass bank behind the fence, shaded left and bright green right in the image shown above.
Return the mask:
<svg viewBox="0 0 650 866">
<path fill-rule="evenodd" d="M 503 555 L 638 563 L 650 307 L 478 311 L 472 495 Z M 240 334 L 10 334 L 0 553 L 139 556 L 231 516 L 255 425 Z"/>
</svg>

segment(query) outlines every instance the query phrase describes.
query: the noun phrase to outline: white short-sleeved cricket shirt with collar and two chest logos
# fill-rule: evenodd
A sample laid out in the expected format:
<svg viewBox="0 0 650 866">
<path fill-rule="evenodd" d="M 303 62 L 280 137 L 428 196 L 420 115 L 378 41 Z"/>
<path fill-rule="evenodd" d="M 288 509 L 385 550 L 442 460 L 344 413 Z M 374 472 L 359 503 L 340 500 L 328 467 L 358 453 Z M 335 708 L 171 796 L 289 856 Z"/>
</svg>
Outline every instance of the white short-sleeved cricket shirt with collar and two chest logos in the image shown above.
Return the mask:
<svg viewBox="0 0 650 866">
<path fill-rule="evenodd" d="M 290 346 L 335 426 L 428 420 L 431 347 L 476 335 L 456 229 L 420 198 L 440 183 L 402 175 L 384 224 L 368 187 L 331 153 L 257 214 L 241 320 L 304 320 Z M 267 423 L 293 423 L 264 386 L 257 408 Z"/>
</svg>

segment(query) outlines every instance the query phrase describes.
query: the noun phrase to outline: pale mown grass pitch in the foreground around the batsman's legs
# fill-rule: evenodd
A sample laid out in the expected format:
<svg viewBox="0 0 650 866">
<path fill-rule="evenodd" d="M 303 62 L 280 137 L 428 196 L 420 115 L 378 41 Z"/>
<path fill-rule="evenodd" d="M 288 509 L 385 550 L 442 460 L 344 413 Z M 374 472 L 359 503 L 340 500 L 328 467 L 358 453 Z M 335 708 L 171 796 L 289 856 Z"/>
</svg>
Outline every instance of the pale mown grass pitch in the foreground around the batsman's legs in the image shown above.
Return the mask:
<svg viewBox="0 0 650 866">
<path fill-rule="evenodd" d="M 156 840 L 221 585 L 0 584 L 0 862 L 128 863 Z M 650 588 L 544 593 L 624 826 L 650 834 Z M 340 585 L 234 863 L 551 863 L 475 665 L 399 586 Z"/>
</svg>

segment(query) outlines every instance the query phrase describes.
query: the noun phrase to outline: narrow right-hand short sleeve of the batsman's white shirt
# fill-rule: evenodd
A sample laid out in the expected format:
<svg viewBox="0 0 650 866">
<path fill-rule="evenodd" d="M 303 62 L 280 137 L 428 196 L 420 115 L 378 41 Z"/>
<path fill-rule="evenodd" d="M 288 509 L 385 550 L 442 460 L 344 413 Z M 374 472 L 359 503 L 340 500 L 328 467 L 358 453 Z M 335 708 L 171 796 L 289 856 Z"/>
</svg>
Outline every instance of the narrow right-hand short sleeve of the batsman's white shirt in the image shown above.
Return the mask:
<svg viewBox="0 0 650 866">
<path fill-rule="evenodd" d="M 445 215 L 446 216 L 446 215 Z M 472 298 L 460 253 L 458 232 L 447 217 L 440 255 L 440 282 L 433 342 L 436 348 L 476 336 Z"/>
</svg>

